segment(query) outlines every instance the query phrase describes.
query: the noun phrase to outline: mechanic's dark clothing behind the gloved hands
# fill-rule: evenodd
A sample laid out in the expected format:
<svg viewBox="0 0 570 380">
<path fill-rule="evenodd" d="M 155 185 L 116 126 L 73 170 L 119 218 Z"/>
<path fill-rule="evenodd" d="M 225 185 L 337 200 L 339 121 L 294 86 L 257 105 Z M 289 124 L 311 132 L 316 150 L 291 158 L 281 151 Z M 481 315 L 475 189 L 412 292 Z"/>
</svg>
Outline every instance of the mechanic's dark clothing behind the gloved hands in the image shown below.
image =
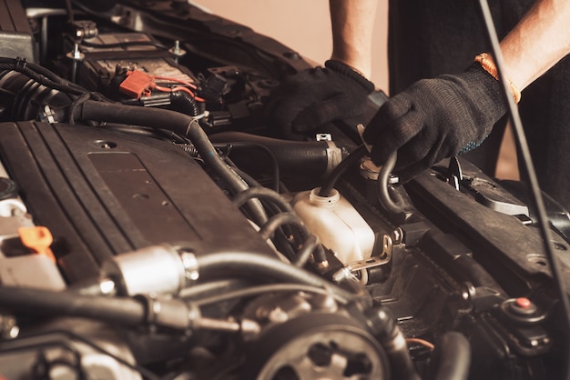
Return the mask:
<svg viewBox="0 0 570 380">
<path fill-rule="evenodd" d="M 489 1 L 500 39 L 533 4 Z M 422 78 L 461 73 L 475 55 L 491 52 L 475 0 L 390 0 L 389 20 L 391 95 Z M 570 209 L 570 57 L 524 90 L 519 110 L 541 187 Z M 494 175 L 503 132 L 497 125 L 467 154 L 487 174 Z"/>
</svg>

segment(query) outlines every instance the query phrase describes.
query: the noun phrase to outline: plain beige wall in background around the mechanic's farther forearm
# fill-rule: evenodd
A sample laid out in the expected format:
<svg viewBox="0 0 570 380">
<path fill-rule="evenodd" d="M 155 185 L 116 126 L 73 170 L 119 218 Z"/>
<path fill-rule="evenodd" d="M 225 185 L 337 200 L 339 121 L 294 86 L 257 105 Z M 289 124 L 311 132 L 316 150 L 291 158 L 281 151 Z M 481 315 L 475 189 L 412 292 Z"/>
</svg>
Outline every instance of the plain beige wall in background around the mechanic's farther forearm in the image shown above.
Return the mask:
<svg viewBox="0 0 570 380">
<path fill-rule="evenodd" d="M 331 55 L 332 37 L 328 0 L 191 0 L 216 15 L 247 25 L 290 46 L 322 65 Z M 379 2 L 376 16 L 372 82 L 388 91 L 386 56 L 387 3 Z"/>
</svg>

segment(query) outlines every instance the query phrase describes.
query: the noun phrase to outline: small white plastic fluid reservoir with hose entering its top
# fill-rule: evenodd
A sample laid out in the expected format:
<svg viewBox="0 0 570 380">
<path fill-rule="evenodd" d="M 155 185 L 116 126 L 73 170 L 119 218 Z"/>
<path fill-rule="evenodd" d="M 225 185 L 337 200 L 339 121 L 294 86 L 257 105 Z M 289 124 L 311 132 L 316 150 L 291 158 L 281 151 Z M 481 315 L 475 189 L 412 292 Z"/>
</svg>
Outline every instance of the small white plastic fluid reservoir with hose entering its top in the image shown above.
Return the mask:
<svg viewBox="0 0 570 380">
<path fill-rule="evenodd" d="M 334 251 L 343 264 L 372 255 L 374 232 L 336 189 L 320 196 L 320 187 L 295 195 L 291 204 L 310 233 Z"/>
</svg>

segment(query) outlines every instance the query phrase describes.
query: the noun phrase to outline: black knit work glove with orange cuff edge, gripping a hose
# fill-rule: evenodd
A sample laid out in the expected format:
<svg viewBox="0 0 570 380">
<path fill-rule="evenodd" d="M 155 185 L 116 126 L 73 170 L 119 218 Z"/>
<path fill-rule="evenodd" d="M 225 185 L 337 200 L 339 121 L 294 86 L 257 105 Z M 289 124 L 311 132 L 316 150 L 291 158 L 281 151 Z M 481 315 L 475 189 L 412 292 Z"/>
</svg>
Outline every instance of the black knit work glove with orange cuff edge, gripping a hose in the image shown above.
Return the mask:
<svg viewBox="0 0 570 380">
<path fill-rule="evenodd" d="M 443 158 L 481 145 L 506 105 L 501 85 L 473 64 L 459 75 L 423 79 L 389 99 L 362 138 L 382 165 L 398 151 L 394 172 L 406 182 Z"/>
</svg>

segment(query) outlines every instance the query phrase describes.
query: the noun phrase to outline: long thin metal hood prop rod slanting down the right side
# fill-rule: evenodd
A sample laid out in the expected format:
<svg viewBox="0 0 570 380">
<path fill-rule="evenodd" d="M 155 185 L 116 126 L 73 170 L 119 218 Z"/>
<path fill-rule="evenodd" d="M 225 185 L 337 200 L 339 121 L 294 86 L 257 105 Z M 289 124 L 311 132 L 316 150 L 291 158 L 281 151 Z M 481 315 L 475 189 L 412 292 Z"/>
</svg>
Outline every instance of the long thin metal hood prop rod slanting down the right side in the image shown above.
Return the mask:
<svg viewBox="0 0 570 380">
<path fill-rule="evenodd" d="M 565 339 L 566 343 L 566 359 L 562 361 L 565 363 L 565 378 L 570 378 L 570 302 L 568 301 L 568 294 L 565 289 L 564 276 L 558 264 L 558 260 L 555 256 L 555 248 L 552 244 L 552 237 L 550 231 L 550 224 L 548 223 L 548 218 L 546 217 L 545 202 L 542 196 L 542 192 L 538 185 L 538 179 L 536 177 L 536 172 L 534 171 L 534 165 L 530 154 L 530 149 L 524 135 L 523 123 L 521 121 L 521 116 L 519 115 L 518 108 L 514 104 L 514 98 L 511 95 L 511 90 L 508 85 L 508 81 L 504 80 L 504 59 L 503 53 L 501 52 L 501 46 L 499 43 L 499 38 L 497 36 L 496 30 L 494 28 L 493 15 L 491 15 L 491 9 L 487 0 L 479 0 L 479 5 L 481 7 L 481 12 L 483 14 L 483 20 L 486 26 L 487 36 L 491 42 L 493 48 L 493 55 L 495 65 L 497 67 L 497 73 L 499 75 L 500 84 L 503 87 L 504 99 L 506 99 L 509 114 L 511 118 L 511 123 L 514 127 L 514 135 L 516 137 L 516 142 L 518 143 L 519 150 L 521 152 L 521 158 L 524 162 L 524 167 L 526 168 L 526 174 L 528 175 L 528 180 L 530 184 L 531 202 L 533 203 L 534 209 L 536 210 L 536 219 L 538 227 L 540 229 L 543 243 L 545 245 L 545 253 L 548 257 L 548 264 L 550 265 L 550 270 L 555 282 L 556 291 L 560 297 L 560 303 L 562 307 L 562 313 L 565 319 Z"/>
</svg>

